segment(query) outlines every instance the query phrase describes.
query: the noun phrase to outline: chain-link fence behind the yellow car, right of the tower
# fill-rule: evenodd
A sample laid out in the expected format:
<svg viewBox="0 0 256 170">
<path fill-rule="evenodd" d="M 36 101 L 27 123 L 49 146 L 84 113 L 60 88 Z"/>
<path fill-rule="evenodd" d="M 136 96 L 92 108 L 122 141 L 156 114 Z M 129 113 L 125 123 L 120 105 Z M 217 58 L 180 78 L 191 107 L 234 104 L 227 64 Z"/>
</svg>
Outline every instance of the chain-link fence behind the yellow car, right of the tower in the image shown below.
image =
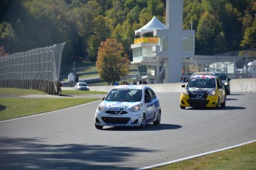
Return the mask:
<svg viewBox="0 0 256 170">
<path fill-rule="evenodd" d="M 204 71 L 226 72 L 229 78 L 256 78 L 256 49 L 197 55 L 183 60 L 183 77 Z"/>
</svg>

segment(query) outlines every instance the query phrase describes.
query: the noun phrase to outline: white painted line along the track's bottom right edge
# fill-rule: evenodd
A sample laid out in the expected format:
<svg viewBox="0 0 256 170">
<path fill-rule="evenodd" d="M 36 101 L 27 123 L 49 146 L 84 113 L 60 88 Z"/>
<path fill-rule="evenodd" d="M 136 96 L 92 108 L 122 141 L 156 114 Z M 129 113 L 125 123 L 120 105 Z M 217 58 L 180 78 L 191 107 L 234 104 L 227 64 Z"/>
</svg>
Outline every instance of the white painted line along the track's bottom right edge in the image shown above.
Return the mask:
<svg viewBox="0 0 256 170">
<path fill-rule="evenodd" d="M 223 149 L 217 149 L 217 150 L 214 150 L 214 151 L 211 151 L 211 152 L 206 152 L 206 153 L 203 153 L 203 154 L 196 154 L 194 156 L 191 156 L 191 157 L 184 157 L 184 158 L 181 158 L 179 160 L 171 160 L 169 162 L 165 162 L 165 163 L 160 163 L 160 164 L 157 164 L 157 165 L 154 165 L 154 166 L 146 166 L 144 168 L 141 168 L 141 169 L 136 169 L 136 170 L 142 170 L 142 169 L 153 169 L 153 168 L 156 168 L 158 166 L 166 166 L 168 164 L 171 164 L 171 163 L 177 163 L 177 162 L 180 162 L 182 160 L 189 160 L 191 158 L 194 158 L 194 157 L 201 157 L 201 156 L 204 156 L 206 154 L 213 154 L 215 152 L 220 152 L 220 151 L 225 151 L 227 149 L 233 149 L 233 148 L 237 148 L 239 146 L 243 146 L 243 145 L 246 145 L 246 144 L 249 144 L 249 143 L 254 143 L 256 142 L 256 140 L 251 140 L 249 142 L 246 142 L 246 143 L 241 143 L 241 144 L 238 144 L 238 145 L 235 145 L 235 146 L 229 146 L 227 148 L 223 148 Z"/>
</svg>

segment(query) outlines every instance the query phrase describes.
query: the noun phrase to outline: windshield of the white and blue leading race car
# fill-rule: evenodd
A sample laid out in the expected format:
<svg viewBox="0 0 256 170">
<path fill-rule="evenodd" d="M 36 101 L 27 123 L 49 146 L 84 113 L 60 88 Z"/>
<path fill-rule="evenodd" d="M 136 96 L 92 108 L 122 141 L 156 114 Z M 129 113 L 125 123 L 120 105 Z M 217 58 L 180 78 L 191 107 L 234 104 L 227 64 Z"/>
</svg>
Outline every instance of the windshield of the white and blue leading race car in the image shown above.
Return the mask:
<svg viewBox="0 0 256 170">
<path fill-rule="evenodd" d="M 112 89 L 105 98 L 105 101 L 137 102 L 141 100 L 141 89 Z"/>
</svg>

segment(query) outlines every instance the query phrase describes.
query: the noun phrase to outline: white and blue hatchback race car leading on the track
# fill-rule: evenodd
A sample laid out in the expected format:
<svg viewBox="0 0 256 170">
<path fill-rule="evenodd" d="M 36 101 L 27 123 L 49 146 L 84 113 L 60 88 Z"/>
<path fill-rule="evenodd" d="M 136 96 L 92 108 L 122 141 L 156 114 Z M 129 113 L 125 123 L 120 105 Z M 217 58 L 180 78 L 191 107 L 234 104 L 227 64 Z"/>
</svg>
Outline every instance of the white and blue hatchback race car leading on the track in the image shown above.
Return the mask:
<svg viewBox="0 0 256 170">
<path fill-rule="evenodd" d="M 160 124 L 160 100 L 149 86 L 116 86 L 102 98 L 95 113 L 95 127 Z"/>
</svg>

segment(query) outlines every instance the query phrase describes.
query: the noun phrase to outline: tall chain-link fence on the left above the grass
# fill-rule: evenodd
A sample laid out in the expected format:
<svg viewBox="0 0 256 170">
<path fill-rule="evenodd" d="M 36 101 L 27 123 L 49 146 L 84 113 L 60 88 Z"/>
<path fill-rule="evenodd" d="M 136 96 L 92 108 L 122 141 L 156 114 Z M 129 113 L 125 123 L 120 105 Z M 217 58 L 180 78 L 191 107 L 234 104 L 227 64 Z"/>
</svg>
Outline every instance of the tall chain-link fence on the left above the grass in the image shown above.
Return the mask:
<svg viewBox="0 0 256 170">
<path fill-rule="evenodd" d="M 57 95 L 65 43 L 0 58 L 0 87 L 38 89 Z"/>
</svg>

